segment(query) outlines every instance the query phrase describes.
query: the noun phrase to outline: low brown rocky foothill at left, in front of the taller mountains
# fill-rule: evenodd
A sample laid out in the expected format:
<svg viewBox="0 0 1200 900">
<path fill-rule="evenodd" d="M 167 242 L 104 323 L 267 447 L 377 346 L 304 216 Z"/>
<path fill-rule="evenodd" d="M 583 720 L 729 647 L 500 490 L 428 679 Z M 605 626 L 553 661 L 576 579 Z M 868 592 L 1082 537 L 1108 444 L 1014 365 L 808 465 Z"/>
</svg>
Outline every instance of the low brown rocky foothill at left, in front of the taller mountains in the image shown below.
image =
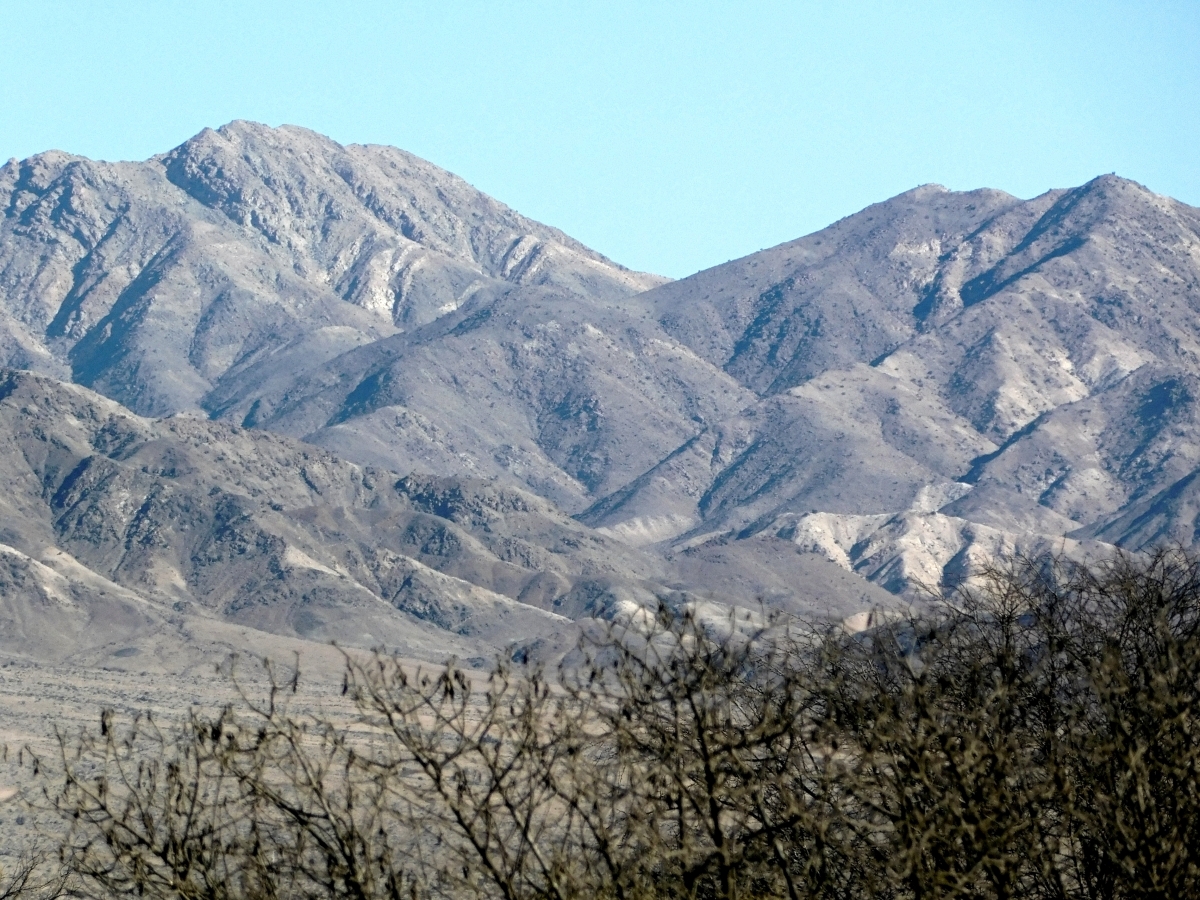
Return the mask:
<svg viewBox="0 0 1200 900">
<path fill-rule="evenodd" d="M 806 602 L 775 586 L 776 605 L 869 605 L 835 571 L 808 566 Z M 0 370 L 7 653 L 66 659 L 203 620 L 490 659 L 690 587 L 668 562 L 496 481 L 400 476 L 265 431 L 144 419 Z M 760 593 L 751 578 L 719 599 Z"/>
</svg>

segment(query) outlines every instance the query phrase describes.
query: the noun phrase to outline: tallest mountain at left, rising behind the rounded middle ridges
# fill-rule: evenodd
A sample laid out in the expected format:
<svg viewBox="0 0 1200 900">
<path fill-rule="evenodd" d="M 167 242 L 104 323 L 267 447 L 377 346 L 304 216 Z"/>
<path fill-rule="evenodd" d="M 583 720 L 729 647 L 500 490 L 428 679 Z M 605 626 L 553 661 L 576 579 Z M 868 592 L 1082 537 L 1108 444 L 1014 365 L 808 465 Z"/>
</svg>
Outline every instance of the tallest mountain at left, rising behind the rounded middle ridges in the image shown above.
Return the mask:
<svg viewBox="0 0 1200 900">
<path fill-rule="evenodd" d="M 476 294 L 625 296 L 630 272 L 391 148 L 233 122 L 146 162 L 0 168 L 0 364 L 137 413 L 209 409 L 272 358 L 302 371 Z"/>
</svg>

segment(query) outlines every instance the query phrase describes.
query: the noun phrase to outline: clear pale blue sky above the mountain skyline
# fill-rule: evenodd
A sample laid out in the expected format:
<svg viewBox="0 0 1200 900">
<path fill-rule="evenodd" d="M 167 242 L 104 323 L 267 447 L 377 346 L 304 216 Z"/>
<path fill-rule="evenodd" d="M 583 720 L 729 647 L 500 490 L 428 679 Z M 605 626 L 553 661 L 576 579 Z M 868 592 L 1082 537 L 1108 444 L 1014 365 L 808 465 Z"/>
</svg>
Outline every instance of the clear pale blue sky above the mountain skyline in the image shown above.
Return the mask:
<svg viewBox="0 0 1200 900">
<path fill-rule="evenodd" d="M 1200 1 L 0 0 L 0 157 L 253 119 L 682 276 L 937 181 L 1200 205 Z"/>
</svg>

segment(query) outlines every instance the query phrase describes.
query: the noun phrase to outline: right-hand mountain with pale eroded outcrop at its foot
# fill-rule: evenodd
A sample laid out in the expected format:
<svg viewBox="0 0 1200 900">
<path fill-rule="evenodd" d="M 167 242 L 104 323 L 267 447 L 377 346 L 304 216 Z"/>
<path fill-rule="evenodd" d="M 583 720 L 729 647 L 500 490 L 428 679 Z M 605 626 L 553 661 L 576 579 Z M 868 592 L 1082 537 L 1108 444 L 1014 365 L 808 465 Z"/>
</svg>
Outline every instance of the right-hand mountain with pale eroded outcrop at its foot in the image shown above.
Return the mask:
<svg viewBox="0 0 1200 900">
<path fill-rule="evenodd" d="M 881 544 L 949 577 L 976 545 L 1190 535 L 1106 524 L 1198 466 L 1200 211 L 1140 185 L 923 187 L 638 301 L 760 400 L 592 524 L 802 535 L 877 581 Z"/>
</svg>

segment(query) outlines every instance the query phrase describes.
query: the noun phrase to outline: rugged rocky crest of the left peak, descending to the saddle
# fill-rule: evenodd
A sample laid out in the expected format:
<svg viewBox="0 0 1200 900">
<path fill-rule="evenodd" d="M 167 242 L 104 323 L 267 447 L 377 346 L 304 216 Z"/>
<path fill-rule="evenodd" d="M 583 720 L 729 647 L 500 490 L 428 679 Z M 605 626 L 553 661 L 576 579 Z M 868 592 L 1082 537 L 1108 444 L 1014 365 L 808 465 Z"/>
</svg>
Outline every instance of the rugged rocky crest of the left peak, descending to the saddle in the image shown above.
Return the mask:
<svg viewBox="0 0 1200 900">
<path fill-rule="evenodd" d="M 403 251 L 398 234 L 492 278 L 534 283 L 539 274 L 554 277 L 548 271 L 553 264 L 544 257 L 569 253 L 578 257 L 576 263 L 594 263 L 596 274 L 626 275 L 635 287 L 643 283 L 557 228 L 526 218 L 396 148 L 342 146 L 307 128 L 234 121 L 205 128 L 156 161 L 188 196 L 271 242 L 306 251 L 335 281 L 338 270 L 346 278 L 355 269 L 349 262 L 353 241 L 372 226 L 385 226 L 390 234 L 371 236 Z M 353 289 L 350 295 L 362 296 Z M 395 317 L 390 306 L 386 311 Z"/>
</svg>

